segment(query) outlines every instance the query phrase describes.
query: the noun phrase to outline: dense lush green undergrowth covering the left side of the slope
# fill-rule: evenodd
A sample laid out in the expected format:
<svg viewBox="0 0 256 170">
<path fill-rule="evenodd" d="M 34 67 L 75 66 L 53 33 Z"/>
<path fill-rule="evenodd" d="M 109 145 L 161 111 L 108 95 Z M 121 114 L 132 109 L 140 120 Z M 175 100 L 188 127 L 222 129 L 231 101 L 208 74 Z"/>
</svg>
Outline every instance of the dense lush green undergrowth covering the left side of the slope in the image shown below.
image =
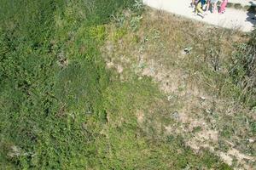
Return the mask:
<svg viewBox="0 0 256 170">
<path fill-rule="evenodd" d="M 132 0 L 1 0 L 1 168 L 230 168 L 207 150 L 195 154 L 179 136 L 157 137 L 154 127 L 145 133 L 135 113 L 163 94 L 149 78 L 120 82 L 105 69 L 104 25 L 122 8 L 136 15 L 140 7 Z"/>
</svg>

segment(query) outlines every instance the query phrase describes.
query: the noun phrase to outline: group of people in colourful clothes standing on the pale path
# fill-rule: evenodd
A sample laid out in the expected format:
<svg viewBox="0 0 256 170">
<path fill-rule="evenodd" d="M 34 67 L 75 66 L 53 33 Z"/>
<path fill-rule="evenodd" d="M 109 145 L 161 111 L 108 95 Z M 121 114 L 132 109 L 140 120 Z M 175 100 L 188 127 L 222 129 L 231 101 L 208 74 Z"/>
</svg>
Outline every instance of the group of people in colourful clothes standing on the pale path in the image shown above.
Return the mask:
<svg viewBox="0 0 256 170">
<path fill-rule="evenodd" d="M 222 0 L 220 7 L 217 8 L 218 0 L 192 0 L 191 8 L 195 8 L 195 14 L 199 14 L 202 18 L 212 9 L 212 13 L 224 14 L 228 0 Z"/>
</svg>

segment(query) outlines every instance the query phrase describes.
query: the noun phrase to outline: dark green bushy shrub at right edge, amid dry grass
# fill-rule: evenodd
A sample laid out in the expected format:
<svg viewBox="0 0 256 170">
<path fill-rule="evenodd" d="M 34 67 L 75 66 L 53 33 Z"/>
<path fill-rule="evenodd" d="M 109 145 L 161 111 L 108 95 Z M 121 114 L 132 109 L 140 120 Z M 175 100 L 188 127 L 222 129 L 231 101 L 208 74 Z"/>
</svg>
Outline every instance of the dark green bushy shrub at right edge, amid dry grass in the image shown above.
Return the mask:
<svg viewBox="0 0 256 170">
<path fill-rule="evenodd" d="M 241 89 L 239 99 L 256 108 L 256 30 L 248 42 L 236 44 L 229 73 Z"/>
</svg>

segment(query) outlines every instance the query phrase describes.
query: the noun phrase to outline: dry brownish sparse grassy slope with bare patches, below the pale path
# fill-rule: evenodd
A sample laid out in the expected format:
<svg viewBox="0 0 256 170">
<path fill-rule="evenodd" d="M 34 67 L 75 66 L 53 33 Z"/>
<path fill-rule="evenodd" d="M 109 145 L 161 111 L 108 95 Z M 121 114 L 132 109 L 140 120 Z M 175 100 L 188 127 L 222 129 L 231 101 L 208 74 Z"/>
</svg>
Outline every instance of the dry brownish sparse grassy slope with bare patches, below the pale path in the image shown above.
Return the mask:
<svg viewBox="0 0 256 170">
<path fill-rule="evenodd" d="M 102 48 L 108 67 L 122 81 L 151 77 L 166 95 L 166 104 L 141 114 L 144 131 L 153 124 L 160 136 L 181 135 L 193 150 L 211 150 L 238 169 L 255 167 L 255 33 L 149 8 L 114 18 Z"/>
</svg>

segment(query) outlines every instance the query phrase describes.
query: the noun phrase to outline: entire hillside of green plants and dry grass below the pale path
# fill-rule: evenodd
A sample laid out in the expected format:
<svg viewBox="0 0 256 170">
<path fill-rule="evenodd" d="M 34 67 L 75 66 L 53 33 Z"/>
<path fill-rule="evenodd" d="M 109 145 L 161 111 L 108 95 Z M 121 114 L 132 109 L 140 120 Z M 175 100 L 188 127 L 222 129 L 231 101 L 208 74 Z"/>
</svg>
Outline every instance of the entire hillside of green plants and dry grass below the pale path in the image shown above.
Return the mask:
<svg viewBox="0 0 256 170">
<path fill-rule="evenodd" d="M 223 66 L 241 32 L 138 1 L 0 3 L 1 169 L 255 166 L 253 93 Z"/>
</svg>

